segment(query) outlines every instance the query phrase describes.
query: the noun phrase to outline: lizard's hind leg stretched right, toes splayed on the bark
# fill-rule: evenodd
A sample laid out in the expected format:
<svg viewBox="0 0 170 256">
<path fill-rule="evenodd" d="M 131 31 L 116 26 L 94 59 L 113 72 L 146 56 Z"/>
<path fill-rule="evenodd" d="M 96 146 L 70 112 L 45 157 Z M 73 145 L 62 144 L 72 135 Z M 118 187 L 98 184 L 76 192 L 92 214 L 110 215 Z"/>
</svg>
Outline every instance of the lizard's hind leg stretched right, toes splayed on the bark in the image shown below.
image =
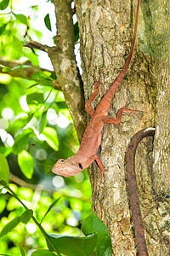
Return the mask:
<svg viewBox="0 0 170 256">
<path fill-rule="evenodd" d="M 127 103 L 125 104 L 124 107 L 120 108 L 117 112 L 117 117 L 116 119 L 109 117 L 109 116 L 102 116 L 101 120 L 105 123 L 105 124 L 113 124 L 113 125 L 118 125 L 121 122 L 122 119 L 122 113 L 127 113 L 127 114 L 131 114 L 133 117 L 137 116 L 139 119 L 139 115 L 135 112 L 144 112 L 143 110 L 133 110 L 133 109 L 129 109 L 127 108 Z"/>
</svg>

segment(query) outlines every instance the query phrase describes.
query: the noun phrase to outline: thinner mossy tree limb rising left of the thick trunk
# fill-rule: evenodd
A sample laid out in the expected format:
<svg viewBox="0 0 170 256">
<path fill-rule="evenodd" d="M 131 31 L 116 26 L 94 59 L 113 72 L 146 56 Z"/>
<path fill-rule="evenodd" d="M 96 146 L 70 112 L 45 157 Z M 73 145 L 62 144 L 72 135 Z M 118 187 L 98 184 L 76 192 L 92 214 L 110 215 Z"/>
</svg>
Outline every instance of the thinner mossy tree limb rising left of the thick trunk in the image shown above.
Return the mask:
<svg viewBox="0 0 170 256">
<path fill-rule="evenodd" d="M 57 45 L 48 48 L 48 55 L 54 66 L 57 83 L 65 95 L 71 112 L 77 136 L 82 138 L 86 127 L 84 92 L 74 54 L 74 26 L 71 0 L 54 0 L 57 19 Z"/>
</svg>

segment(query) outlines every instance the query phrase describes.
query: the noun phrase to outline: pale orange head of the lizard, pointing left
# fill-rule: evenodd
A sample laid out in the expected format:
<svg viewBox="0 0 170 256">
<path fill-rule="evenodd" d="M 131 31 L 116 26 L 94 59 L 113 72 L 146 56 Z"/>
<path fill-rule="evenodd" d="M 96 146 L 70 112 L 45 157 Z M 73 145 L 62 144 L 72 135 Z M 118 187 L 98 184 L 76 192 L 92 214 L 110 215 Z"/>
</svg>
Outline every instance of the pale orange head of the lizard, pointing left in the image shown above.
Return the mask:
<svg viewBox="0 0 170 256">
<path fill-rule="evenodd" d="M 52 168 L 52 172 L 64 177 L 75 176 L 79 172 L 82 172 L 82 170 L 82 164 L 74 162 L 71 158 L 66 160 L 59 159 Z"/>
</svg>

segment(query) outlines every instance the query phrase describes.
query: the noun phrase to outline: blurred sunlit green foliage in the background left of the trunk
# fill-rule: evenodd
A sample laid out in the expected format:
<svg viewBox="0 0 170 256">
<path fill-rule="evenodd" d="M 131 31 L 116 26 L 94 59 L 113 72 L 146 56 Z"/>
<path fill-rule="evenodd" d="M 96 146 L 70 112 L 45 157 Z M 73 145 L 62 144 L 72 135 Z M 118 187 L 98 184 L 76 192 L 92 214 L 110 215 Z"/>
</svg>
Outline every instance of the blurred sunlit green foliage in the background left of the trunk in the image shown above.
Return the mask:
<svg viewBox="0 0 170 256">
<path fill-rule="evenodd" d="M 8 160 L 14 177 L 20 178 L 10 176 L 9 188 L 34 212 L 38 222 L 48 207 L 62 196 L 43 218 L 44 230 L 81 236 L 82 220 L 92 212 L 88 174 L 84 171 L 76 177 L 65 178 L 51 172 L 59 158 L 76 153 L 77 132 L 63 93 L 54 89 L 54 73 L 38 68 L 40 52 L 35 54 L 23 47 L 31 38 L 42 39 L 38 27 L 31 26 L 34 17 L 41 15 L 39 6 L 30 6 L 26 15 L 26 9 L 17 9 L 20 2 L 3 0 L 0 3 L 0 55 L 6 61 L 25 60 L 14 67 L 0 65 L 0 154 Z M 45 4 L 39 1 L 40 5 L 41 2 Z M 50 15 L 46 13 L 45 17 L 44 29 L 51 30 Z M 31 67 L 37 71 L 31 77 L 26 76 L 24 71 Z M 1 231 L 9 221 L 20 217 L 24 208 L 6 189 L 1 191 L 0 206 Z M 20 222 L 0 239 L 0 253 L 5 255 L 31 255 L 36 249 L 47 249 L 47 244 L 31 219 L 27 224 Z"/>
</svg>

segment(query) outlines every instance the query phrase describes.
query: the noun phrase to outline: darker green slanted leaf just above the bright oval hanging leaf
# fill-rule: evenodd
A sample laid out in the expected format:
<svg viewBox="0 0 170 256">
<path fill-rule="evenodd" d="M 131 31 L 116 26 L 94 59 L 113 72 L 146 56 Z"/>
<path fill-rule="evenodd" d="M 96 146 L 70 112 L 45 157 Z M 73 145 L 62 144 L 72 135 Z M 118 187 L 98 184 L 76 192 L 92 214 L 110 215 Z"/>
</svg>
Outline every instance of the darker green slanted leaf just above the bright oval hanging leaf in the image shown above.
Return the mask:
<svg viewBox="0 0 170 256">
<path fill-rule="evenodd" d="M 26 129 L 25 131 L 22 131 L 14 140 L 13 145 L 13 153 L 19 154 L 23 149 L 26 148 L 26 145 L 29 141 L 29 137 L 34 134 L 31 128 Z"/>
</svg>

